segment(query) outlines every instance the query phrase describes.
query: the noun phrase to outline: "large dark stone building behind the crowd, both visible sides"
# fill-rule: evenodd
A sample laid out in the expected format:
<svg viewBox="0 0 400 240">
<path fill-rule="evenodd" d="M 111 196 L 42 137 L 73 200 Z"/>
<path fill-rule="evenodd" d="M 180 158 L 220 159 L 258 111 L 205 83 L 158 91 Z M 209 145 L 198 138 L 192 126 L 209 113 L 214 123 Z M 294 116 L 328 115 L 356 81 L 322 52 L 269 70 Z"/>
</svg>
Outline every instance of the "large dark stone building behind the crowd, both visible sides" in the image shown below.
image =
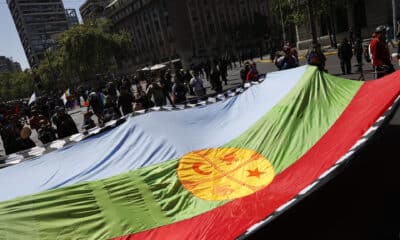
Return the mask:
<svg viewBox="0 0 400 240">
<path fill-rule="evenodd" d="M 238 55 L 261 47 L 268 0 L 114 0 L 105 8 L 117 31 L 127 31 L 134 62 L 186 63 Z"/>
</svg>

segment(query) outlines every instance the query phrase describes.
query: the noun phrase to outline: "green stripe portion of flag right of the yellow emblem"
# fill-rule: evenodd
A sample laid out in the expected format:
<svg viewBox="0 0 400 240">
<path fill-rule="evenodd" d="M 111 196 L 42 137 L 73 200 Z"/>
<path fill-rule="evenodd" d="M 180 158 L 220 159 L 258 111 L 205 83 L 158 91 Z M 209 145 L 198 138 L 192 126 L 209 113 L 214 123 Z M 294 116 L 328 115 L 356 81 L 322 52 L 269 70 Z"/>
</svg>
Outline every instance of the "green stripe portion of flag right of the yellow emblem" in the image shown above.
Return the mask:
<svg viewBox="0 0 400 240">
<path fill-rule="evenodd" d="M 280 173 L 329 130 L 361 86 L 309 67 L 295 89 L 227 146 L 261 153 Z"/>
</svg>

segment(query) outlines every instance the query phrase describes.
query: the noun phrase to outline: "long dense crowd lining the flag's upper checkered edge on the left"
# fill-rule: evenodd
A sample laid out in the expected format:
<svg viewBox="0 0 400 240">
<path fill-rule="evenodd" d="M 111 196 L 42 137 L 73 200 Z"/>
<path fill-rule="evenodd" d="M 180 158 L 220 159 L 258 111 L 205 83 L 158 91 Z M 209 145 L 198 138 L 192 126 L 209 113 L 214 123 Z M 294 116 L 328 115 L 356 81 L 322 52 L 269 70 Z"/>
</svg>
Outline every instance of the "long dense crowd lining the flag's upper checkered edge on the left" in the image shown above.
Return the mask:
<svg viewBox="0 0 400 240">
<path fill-rule="evenodd" d="M 5 154 L 9 155 L 34 147 L 32 131 L 42 144 L 63 139 L 133 111 L 154 106 L 185 104 L 192 98 L 204 98 L 209 93 L 222 93 L 228 81 L 228 69 L 233 68 L 227 60 L 215 60 L 213 64 L 192 65 L 190 70 L 163 69 L 142 79 L 125 75 L 113 78 L 96 90 L 84 87 L 71 89 L 66 101 L 57 95 L 38 97 L 33 103 L 27 100 L 0 104 L 0 136 Z M 255 63 L 244 63 L 243 82 L 258 78 Z M 208 81 L 211 90 L 206 89 Z M 83 113 L 82 126 L 77 126 L 68 110 L 74 105 L 87 107 Z M 94 116 L 96 116 L 94 118 Z M 97 122 L 96 122 L 97 119 Z"/>
</svg>

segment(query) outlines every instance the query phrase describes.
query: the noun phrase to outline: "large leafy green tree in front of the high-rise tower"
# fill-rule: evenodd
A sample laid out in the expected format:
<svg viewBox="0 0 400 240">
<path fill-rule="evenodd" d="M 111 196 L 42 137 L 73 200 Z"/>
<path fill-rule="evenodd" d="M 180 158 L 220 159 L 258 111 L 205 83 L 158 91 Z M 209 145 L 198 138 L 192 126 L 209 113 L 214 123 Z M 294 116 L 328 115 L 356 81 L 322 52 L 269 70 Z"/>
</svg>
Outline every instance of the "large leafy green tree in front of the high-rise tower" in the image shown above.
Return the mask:
<svg viewBox="0 0 400 240">
<path fill-rule="evenodd" d="M 131 46 L 131 36 L 112 32 L 106 20 L 70 28 L 38 67 L 42 87 L 62 88 L 76 82 L 74 79 L 88 81 L 96 74 L 114 71 L 129 57 Z"/>
</svg>

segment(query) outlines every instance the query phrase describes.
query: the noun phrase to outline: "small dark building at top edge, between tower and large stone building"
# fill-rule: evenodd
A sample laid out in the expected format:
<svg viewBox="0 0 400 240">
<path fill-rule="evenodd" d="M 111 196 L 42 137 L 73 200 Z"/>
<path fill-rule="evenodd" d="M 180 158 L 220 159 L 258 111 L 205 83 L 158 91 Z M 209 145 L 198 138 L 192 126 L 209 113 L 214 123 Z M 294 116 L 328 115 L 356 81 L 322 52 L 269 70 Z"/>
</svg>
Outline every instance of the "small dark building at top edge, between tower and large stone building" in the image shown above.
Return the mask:
<svg viewBox="0 0 400 240">
<path fill-rule="evenodd" d="M 86 0 L 79 8 L 84 23 L 98 18 L 104 18 L 104 8 L 110 3 L 109 0 Z"/>
</svg>

